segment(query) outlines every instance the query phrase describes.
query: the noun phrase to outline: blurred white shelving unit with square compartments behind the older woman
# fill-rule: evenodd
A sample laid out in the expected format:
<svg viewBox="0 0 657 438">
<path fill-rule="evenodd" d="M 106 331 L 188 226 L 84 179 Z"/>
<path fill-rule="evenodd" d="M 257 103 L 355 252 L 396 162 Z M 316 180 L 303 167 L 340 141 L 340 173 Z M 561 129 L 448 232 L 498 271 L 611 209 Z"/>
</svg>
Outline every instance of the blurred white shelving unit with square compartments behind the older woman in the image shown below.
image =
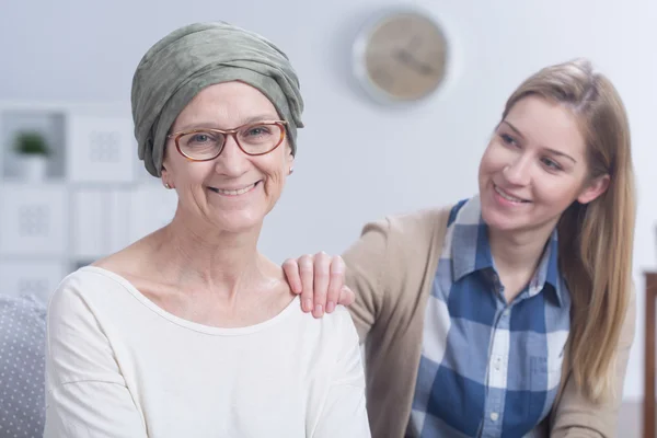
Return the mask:
<svg viewBox="0 0 657 438">
<path fill-rule="evenodd" d="M 50 155 L 31 177 L 19 132 Z M 169 223 L 177 205 L 137 157 L 130 105 L 0 101 L 0 293 L 46 301 L 69 273 Z"/>
</svg>

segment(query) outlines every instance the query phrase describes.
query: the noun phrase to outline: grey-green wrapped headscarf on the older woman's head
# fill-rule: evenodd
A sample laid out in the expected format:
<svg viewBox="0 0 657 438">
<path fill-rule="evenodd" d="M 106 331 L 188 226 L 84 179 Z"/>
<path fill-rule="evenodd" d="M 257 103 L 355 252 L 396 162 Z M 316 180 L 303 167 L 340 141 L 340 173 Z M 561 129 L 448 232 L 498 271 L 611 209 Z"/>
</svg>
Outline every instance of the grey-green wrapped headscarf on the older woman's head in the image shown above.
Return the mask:
<svg viewBox="0 0 657 438">
<path fill-rule="evenodd" d="M 289 59 L 262 36 L 224 22 L 181 27 L 153 45 L 132 78 L 132 119 L 139 158 L 160 176 L 166 135 L 175 118 L 208 85 L 242 81 L 260 90 L 287 120 L 292 153 L 303 127 L 303 100 Z"/>
</svg>

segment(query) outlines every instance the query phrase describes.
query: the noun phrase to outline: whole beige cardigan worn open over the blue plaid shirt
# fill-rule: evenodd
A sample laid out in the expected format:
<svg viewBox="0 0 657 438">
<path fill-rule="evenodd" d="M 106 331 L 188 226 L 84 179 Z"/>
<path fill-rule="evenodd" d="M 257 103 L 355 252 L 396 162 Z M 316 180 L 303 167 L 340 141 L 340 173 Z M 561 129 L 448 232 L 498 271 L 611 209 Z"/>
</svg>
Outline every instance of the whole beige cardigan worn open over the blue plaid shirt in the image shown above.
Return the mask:
<svg viewBox="0 0 657 438">
<path fill-rule="evenodd" d="M 422 349 L 424 311 L 442 250 L 449 208 L 388 217 L 362 229 L 343 255 L 349 307 L 365 342 L 368 414 L 372 436 L 401 438 L 411 415 Z M 568 366 L 550 416 L 535 436 L 614 437 L 630 347 L 635 299 L 623 325 L 616 359 L 616 396 L 593 404 L 579 394 Z"/>
</svg>

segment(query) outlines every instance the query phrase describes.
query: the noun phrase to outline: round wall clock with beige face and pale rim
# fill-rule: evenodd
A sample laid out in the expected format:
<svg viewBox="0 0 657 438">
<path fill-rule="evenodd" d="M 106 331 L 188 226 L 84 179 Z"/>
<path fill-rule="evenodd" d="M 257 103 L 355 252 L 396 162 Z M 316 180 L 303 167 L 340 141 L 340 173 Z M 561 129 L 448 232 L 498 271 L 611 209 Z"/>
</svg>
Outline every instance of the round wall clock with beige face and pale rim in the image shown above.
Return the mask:
<svg viewBox="0 0 657 438">
<path fill-rule="evenodd" d="M 364 85 L 389 101 L 425 97 L 446 74 L 445 35 L 418 12 L 394 12 L 377 20 L 356 49 Z"/>
</svg>

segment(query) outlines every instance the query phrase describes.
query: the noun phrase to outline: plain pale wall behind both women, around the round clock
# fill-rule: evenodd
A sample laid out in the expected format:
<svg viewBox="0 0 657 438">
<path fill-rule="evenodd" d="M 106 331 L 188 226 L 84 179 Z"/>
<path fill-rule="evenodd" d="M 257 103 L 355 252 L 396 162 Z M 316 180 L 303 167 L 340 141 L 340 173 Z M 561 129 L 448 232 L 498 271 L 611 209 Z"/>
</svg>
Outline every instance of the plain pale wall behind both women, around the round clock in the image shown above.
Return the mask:
<svg viewBox="0 0 657 438">
<path fill-rule="evenodd" d="M 456 49 L 448 87 L 403 111 L 370 103 L 350 77 L 358 26 L 395 4 L 380 0 L 0 0 L 0 100 L 126 103 L 141 55 L 174 27 L 226 20 L 262 33 L 290 56 L 307 103 L 296 172 L 262 238 L 263 251 L 283 261 L 319 250 L 339 253 L 366 220 L 473 194 L 480 154 L 514 88 L 545 65 L 590 57 L 619 88 L 633 130 L 639 316 L 625 396 L 639 397 L 641 274 L 657 266 L 657 5 L 401 3 L 435 13 Z"/>
</svg>

